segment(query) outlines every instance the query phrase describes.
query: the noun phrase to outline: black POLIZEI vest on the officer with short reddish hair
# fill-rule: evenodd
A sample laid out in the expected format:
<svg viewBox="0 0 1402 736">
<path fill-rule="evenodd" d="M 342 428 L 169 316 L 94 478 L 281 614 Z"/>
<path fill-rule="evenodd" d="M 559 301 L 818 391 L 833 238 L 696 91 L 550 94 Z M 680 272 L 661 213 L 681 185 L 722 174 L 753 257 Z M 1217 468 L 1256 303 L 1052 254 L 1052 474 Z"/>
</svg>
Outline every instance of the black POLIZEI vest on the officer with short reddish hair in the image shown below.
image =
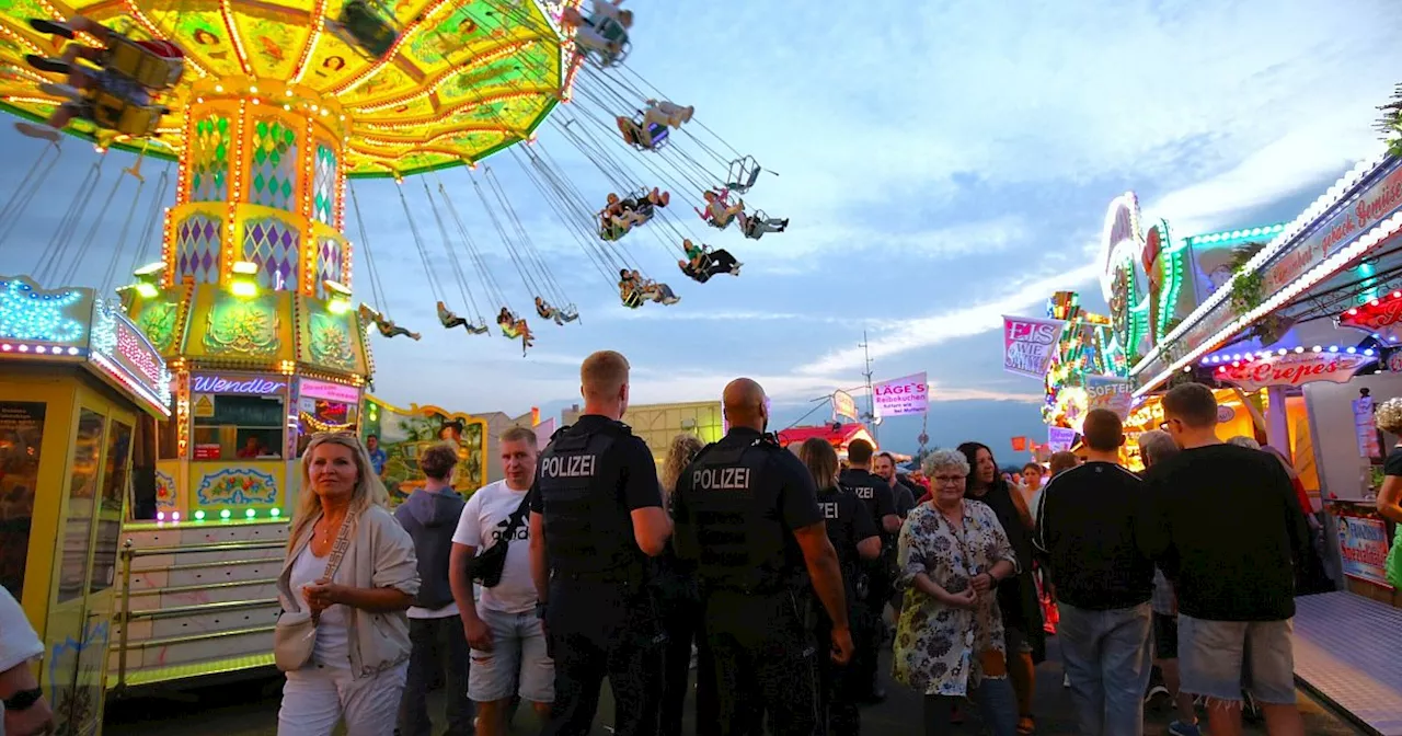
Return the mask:
<svg viewBox="0 0 1402 736">
<path fill-rule="evenodd" d="M 566 426 L 541 453 L 537 488 L 557 575 L 604 579 L 641 565 L 628 509 L 618 499 L 618 475 L 604 475 L 608 449 L 629 436 L 617 422 L 597 430 Z"/>
</svg>

